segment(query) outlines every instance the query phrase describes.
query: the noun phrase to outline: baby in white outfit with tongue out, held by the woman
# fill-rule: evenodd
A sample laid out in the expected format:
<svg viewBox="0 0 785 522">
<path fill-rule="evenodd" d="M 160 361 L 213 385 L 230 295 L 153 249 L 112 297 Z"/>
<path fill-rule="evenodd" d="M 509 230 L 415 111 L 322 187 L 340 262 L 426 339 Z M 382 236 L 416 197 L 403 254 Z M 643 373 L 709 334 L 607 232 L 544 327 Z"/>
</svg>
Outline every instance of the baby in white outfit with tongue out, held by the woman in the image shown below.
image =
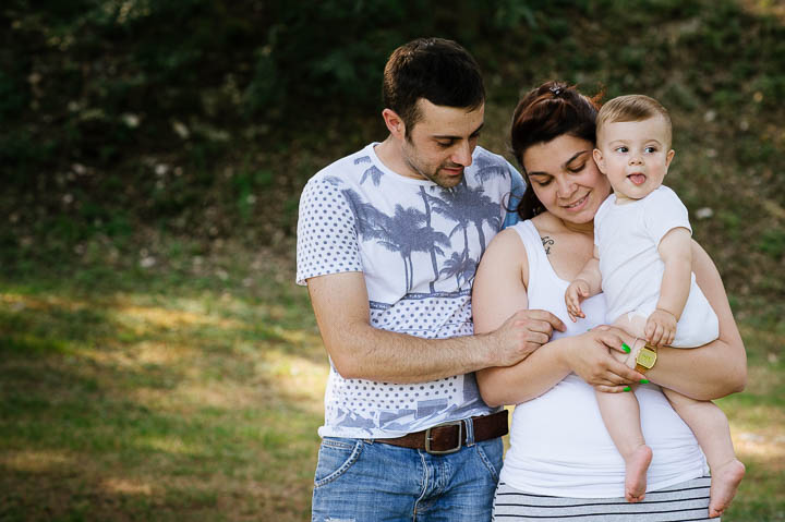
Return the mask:
<svg viewBox="0 0 785 522">
<path fill-rule="evenodd" d="M 696 348 L 718 336 L 717 317 L 691 271 L 687 208 L 662 185 L 675 155 L 671 137 L 671 118 L 652 98 L 621 96 L 602 107 L 594 161 L 614 192 L 594 218 L 594 257 L 565 294 L 575 321 L 584 317 L 582 300 L 605 293 L 608 321 L 648 341 L 635 342 L 629 355 L 619 354 L 641 373 L 654 365 L 657 347 Z M 709 515 L 718 517 L 745 473 L 734 453 L 727 418 L 710 401 L 663 391 L 706 456 L 712 472 Z M 625 497 L 640 501 L 652 450 L 643 439 L 638 401 L 635 393 L 596 396 L 626 463 Z"/>
</svg>

